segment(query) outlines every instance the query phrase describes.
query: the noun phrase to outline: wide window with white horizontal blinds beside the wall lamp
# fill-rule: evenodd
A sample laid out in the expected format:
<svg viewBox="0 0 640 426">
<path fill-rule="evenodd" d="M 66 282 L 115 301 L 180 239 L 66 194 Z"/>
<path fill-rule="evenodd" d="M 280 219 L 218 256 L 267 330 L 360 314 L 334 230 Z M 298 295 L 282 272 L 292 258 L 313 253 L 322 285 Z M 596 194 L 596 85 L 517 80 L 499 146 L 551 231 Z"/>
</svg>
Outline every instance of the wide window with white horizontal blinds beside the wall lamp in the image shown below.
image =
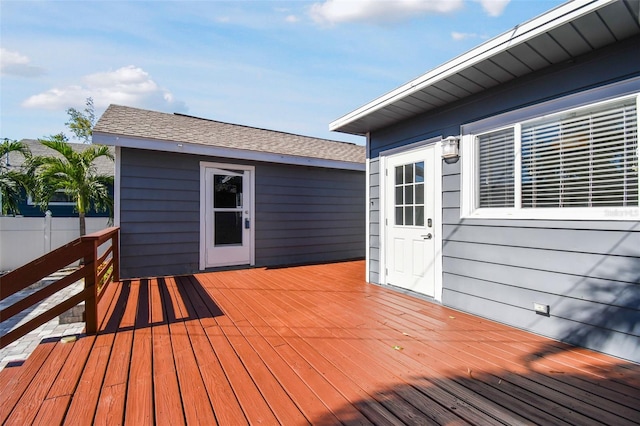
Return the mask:
<svg viewBox="0 0 640 426">
<path fill-rule="evenodd" d="M 612 215 L 630 207 L 640 216 L 637 102 L 627 97 L 476 135 L 475 207 Z"/>
</svg>

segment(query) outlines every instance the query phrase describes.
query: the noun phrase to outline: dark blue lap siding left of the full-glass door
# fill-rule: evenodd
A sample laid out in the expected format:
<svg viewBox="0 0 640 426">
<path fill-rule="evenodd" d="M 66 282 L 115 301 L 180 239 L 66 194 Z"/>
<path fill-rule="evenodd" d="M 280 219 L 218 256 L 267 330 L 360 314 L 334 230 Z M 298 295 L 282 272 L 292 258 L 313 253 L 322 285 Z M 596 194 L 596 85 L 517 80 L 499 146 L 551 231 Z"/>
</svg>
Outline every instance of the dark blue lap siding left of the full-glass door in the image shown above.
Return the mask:
<svg viewBox="0 0 640 426">
<path fill-rule="evenodd" d="M 197 158 L 122 149 L 121 275 L 198 270 L 200 171 Z"/>
</svg>

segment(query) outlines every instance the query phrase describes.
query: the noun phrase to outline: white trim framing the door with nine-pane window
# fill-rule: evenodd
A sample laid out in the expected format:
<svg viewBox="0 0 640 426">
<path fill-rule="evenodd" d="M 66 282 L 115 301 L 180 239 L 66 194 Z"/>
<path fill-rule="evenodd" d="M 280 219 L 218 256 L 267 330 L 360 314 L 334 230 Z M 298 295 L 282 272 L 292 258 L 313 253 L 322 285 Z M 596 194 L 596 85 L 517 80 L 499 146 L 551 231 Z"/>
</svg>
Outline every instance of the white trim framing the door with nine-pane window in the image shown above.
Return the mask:
<svg viewBox="0 0 640 426">
<path fill-rule="evenodd" d="M 419 149 L 426 148 L 428 146 L 433 146 L 434 149 L 434 173 L 435 176 L 438 177 L 434 182 L 434 192 L 435 192 L 435 203 L 434 203 L 434 221 L 435 227 L 433 232 L 434 244 L 435 244 L 435 259 L 434 259 L 434 275 L 435 275 L 435 288 L 434 288 L 434 299 L 438 302 L 442 302 L 442 138 L 429 139 L 424 141 L 423 143 L 412 144 L 408 149 L 399 150 L 393 149 L 386 152 L 380 153 L 380 270 L 379 270 L 379 280 L 380 284 L 387 284 L 387 275 L 385 270 L 387 268 L 387 259 L 386 259 L 386 249 L 387 249 L 387 232 L 386 232 L 386 221 L 387 221 L 387 196 L 386 196 L 386 188 L 387 188 L 387 180 L 392 179 L 393 176 L 387 176 L 385 171 L 387 170 L 387 163 L 389 157 L 392 157 L 396 154 L 406 154 L 411 151 L 416 151 Z"/>
</svg>

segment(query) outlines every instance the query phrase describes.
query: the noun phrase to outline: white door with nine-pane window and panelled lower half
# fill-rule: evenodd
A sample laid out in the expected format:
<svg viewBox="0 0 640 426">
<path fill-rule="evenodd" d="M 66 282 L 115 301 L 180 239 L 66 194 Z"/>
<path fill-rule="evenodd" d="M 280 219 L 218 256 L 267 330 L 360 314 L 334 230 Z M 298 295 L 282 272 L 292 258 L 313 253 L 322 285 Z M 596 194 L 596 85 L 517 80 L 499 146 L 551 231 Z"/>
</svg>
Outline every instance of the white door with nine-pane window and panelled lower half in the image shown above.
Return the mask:
<svg viewBox="0 0 640 426">
<path fill-rule="evenodd" d="M 434 148 L 392 155 L 385 163 L 385 282 L 435 297 Z"/>
</svg>

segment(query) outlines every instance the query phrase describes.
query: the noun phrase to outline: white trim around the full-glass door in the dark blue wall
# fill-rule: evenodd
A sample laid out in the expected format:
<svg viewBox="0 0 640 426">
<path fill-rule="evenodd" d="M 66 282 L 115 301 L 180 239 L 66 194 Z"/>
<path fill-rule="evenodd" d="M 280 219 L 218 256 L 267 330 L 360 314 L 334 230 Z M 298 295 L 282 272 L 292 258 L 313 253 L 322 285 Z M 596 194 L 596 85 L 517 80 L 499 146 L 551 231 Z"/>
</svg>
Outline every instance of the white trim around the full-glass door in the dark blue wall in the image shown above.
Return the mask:
<svg viewBox="0 0 640 426">
<path fill-rule="evenodd" d="M 216 168 L 216 169 L 233 169 L 233 170 L 248 170 L 250 171 L 250 189 L 249 189 L 249 197 L 251 198 L 251 204 L 249 207 L 249 217 L 251 218 L 251 228 L 249 230 L 249 244 L 250 244 L 250 265 L 255 265 L 255 229 L 256 229 L 256 221 L 255 221 L 255 166 L 247 166 L 240 164 L 231 164 L 231 163 L 212 163 L 208 161 L 200 162 L 200 270 L 206 269 L 206 169 L 208 168 Z"/>
</svg>

